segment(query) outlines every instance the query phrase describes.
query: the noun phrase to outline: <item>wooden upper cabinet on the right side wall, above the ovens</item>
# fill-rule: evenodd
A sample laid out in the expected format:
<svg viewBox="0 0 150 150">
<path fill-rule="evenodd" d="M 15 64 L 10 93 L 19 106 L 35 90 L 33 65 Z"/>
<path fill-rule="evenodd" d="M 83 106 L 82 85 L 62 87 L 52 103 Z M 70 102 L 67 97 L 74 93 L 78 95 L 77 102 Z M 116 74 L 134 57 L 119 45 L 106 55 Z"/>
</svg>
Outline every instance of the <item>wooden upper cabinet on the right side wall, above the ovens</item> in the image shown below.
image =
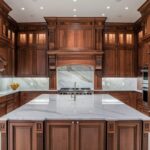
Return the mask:
<svg viewBox="0 0 150 150">
<path fill-rule="evenodd" d="M 138 68 L 141 75 L 141 68 L 150 66 L 150 1 L 147 0 L 139 11 L 142 15 L 137 22 L 138 30 Z"/>
</svg>

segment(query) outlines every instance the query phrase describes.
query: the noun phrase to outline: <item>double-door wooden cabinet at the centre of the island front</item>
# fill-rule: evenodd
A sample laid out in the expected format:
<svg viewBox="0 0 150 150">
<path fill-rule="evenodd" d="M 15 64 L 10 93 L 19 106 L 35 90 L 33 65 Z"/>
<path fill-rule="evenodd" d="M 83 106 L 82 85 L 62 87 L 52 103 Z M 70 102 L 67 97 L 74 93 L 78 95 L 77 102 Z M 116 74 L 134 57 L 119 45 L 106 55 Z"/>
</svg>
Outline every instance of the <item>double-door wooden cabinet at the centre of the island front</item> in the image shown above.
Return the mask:
<svg viewBox="0 0 150 150">
<path fill-rule="evenodd" d="M 104 150 L 104 121 L 47 121 L 46 150 Z"/>
</svg>

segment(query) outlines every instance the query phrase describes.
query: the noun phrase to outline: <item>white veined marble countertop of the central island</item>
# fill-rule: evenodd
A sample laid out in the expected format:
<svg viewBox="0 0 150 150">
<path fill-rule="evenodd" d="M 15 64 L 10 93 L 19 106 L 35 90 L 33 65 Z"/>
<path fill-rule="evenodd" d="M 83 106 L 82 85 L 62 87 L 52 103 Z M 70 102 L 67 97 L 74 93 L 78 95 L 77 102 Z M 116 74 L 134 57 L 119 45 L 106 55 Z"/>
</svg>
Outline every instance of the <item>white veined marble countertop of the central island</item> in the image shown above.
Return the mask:
<svg viewBox="0 0 150 150">
<path fill-rule="evenodd" d="M 150 120 L 108 94 L 42 94 L 0 120 Z"/>
</svg>

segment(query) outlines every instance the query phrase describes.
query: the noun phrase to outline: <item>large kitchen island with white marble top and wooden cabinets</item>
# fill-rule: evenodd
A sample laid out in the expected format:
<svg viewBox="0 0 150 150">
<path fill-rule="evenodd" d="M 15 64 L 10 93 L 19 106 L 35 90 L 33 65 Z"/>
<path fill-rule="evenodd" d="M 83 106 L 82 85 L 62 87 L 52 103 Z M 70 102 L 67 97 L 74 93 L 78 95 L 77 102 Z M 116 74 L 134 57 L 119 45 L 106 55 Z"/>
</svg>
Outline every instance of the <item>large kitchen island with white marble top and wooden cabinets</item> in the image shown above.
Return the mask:
<svg viewBox="0 0 150 150">
<path fill-rule="evenodd" d="M 108 94 L 42 94 L 0 120 L 2 150 L 150 148 L 150 117 Z"/>
</svg>

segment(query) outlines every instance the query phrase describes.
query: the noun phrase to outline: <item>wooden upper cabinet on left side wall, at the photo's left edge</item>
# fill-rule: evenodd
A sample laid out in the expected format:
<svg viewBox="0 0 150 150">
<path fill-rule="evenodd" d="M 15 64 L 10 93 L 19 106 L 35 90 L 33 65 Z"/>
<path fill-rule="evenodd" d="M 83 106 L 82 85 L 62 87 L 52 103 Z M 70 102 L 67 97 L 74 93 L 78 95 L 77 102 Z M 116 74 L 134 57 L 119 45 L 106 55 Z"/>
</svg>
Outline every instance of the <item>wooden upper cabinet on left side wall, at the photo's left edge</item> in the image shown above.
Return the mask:
<svg viewBox="0 0 150 150">
<path fill-rule="evenodd" d="M 8 16 L 11 8 L 4 2 L 0 2 L 0 58 L 4 60 L 5 69 L 0 71 L 1 76 L 14 75 L 15 57 L 15 33 L 16 22 Z"/>
</svg>

